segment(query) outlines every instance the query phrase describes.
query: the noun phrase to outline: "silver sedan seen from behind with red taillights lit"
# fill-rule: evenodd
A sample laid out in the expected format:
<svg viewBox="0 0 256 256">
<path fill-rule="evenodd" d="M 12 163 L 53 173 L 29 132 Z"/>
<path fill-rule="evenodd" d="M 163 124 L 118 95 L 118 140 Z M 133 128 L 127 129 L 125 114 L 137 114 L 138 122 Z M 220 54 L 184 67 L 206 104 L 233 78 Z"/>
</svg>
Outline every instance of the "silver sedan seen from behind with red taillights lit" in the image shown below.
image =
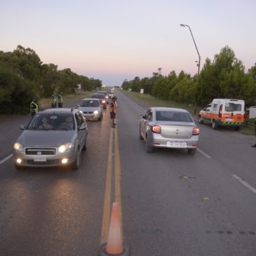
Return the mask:
<svg viewBox="0 0 256 256">
<path fill-rule="evenodd" d="M 140 115 L 140 140 L 146 141 L 146 151 L 155 147 L 187 149 L 194 154 L 198 147 L 199 129 L 185 109 L 151 107 Z"/>
</svg>

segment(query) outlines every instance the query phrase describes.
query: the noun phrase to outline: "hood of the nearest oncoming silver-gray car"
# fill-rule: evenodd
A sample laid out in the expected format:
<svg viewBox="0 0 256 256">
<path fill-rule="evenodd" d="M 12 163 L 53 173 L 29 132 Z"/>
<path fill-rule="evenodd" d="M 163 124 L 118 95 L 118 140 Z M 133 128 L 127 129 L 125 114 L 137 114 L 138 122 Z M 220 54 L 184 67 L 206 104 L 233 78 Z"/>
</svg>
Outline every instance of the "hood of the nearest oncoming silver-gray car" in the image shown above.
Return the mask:
<svg viewBox="0 0 256 256">
<path fill-rule="evenodd" d="M 25 130 L 18 142 L 25 147 L 59 147 L 72 142 L 74 130 Z"/>
</svg>

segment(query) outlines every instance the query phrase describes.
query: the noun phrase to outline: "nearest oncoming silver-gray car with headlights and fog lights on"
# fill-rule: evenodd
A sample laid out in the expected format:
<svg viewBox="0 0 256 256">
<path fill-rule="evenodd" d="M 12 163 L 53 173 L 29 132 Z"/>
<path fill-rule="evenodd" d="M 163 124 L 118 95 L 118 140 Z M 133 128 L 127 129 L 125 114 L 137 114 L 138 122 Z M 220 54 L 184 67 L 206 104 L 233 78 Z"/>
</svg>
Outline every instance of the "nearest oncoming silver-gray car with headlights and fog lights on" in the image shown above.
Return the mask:
<svg viewBox="0 0 256 256">
<path fill-rule="evenodd" d="M 79 168 L 88 128 L 79 109 L 46 109 L 37 113 L 13 146 L 15 168 L 71 166 Z"/>
</svg>

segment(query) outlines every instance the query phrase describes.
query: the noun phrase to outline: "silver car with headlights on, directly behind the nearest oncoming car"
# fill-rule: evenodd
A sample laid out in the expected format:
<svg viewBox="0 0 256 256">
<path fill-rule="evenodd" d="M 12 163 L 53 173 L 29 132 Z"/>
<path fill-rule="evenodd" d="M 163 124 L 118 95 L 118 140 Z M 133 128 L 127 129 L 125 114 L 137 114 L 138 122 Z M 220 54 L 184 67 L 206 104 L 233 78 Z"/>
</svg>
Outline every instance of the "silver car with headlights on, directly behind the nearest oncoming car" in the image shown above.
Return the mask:
<svg viewBox="0 0 256 256">
<path fill-rule="evenodd" d="M 83 112 L 86 120 L 102 120 L 103 107 L 99 99 L 85 98 L 81 100 L 79 110 Z"/>
</svg>

